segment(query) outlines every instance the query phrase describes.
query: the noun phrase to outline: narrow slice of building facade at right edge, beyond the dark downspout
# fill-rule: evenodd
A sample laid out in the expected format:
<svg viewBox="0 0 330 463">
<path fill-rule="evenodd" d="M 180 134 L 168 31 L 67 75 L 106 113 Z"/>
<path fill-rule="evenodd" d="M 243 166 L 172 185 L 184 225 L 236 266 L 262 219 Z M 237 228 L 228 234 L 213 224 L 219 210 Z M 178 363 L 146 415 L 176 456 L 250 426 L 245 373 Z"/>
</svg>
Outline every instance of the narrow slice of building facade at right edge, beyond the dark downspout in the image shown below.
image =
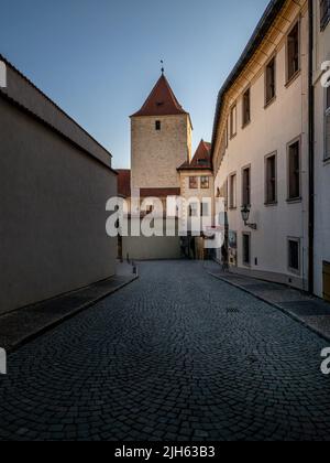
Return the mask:
<svg viewBox="0 0 330 463">
<path fill-rule="evenodd" d="M 315 292 L 330 300 L 330 1 L 315 2 L 314 11 L 315 95 Z"/>
</svg>

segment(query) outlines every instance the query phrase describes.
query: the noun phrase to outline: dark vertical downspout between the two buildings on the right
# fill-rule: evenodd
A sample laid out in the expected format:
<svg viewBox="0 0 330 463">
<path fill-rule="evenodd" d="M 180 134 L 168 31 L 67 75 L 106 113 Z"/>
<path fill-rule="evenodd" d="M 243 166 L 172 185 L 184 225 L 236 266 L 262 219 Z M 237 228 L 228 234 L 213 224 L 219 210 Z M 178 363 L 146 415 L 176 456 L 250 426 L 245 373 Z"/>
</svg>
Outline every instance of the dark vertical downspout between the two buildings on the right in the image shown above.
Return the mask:
<svg viewBox="0 0 330 463">
<path fill-rule="evenodd" d="M 308 132 L 309 132 L 309 219 L 308 219 L 308 291 L 315 288 L 315 87 L 314 87 L 314 0 L 308 1 L 309 11 L 309 76 L 308 76 Z"/>
</svg>

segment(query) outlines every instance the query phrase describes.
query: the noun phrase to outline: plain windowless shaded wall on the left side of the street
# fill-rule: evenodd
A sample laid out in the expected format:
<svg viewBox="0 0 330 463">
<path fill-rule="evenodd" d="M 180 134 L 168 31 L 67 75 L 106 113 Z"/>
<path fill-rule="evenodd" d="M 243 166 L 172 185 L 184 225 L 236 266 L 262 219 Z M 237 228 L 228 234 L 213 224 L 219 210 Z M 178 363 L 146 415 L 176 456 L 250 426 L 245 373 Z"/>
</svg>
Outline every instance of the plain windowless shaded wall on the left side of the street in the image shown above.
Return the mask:
<svg viewBox="0 0 330 463">
<path fill-rule="evenodd" d="M 109 155 L 107 166 L 1 95 L 0 131 L 0 313 L 112 276 Z"/>
</svg>

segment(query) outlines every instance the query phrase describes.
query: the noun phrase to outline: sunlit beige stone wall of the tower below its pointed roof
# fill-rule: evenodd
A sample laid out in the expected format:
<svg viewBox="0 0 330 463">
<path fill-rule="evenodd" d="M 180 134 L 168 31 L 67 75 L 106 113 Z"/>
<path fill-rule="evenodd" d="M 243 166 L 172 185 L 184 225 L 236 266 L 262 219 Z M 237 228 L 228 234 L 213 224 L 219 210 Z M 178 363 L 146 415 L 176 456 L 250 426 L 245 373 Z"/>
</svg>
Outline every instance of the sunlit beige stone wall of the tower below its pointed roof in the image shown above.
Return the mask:
<svg viewBox="0 0 330 463">
<path fill-rule="evenodd" d="M 162 130 L 155 130 L 155 122 Z M 188 115 L 131 119 L 132 194 L 139 189 L 179 187 L 179 168 L 191 157 Z"/>
</svg>

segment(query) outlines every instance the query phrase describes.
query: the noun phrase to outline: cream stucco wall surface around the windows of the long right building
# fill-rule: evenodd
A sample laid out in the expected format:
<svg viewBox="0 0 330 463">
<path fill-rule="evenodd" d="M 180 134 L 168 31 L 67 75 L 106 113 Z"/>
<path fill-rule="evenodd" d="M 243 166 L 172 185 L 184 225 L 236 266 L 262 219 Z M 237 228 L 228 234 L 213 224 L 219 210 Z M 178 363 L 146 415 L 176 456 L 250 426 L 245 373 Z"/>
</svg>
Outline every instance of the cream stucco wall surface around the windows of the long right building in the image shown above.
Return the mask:
<svg viewBox="0 0 330 463">
<path fill-rule="evenodd" d="M 224 157 L 221 157 L 221 139 L 216 147 L 215 191 L 222 189 L 229 175 L 237 173 L 238 207 L 228 212 L 229 228 L 238 233 L 238 271 L 261 278 L 289 283 L 307 289 L 308 278 L 308 11 L 307 2 L 287 2 L 276 30 L 270 33 L 270 42 L 246 67 L 244 75 L 226 96 L 221 125 L 229 117 L 229 108 L 238 101 L 238 134 L 229 141 Z M 286 85 L 286 33 L 297 18 L 301 17 L 301 73 Z M 285 32 L 279 33 L 278 31 Z M 276 46 L 275 46 L 276 45 Z M 276 53 L 276 100 L 265 108 L 264 65 L 267 56 Z M 242 94 L 251 85 L 251 123 L 242 128 Z M 223 129 L 222 129 L 223 131 Z M 301 191 L 302 201 L 287 202 L 288 169 L 287 143 L 297 137 L 301 139 Z M 277 153 L 277 204 L 265 205 L 265 157 Z M 252 169 L 251 223 L 257 230 L 244 226 L 241 217 L 242 169 Z M 242 259 L 242 234 L 251 233 L 251 267 Z M 287 239 L 301 240 L 301 273 L 288 269 Z M 219 257 L 220 257 L 219 252 Z M 257 263 L 255 261 L 257 259 Z"/>
</svg>

